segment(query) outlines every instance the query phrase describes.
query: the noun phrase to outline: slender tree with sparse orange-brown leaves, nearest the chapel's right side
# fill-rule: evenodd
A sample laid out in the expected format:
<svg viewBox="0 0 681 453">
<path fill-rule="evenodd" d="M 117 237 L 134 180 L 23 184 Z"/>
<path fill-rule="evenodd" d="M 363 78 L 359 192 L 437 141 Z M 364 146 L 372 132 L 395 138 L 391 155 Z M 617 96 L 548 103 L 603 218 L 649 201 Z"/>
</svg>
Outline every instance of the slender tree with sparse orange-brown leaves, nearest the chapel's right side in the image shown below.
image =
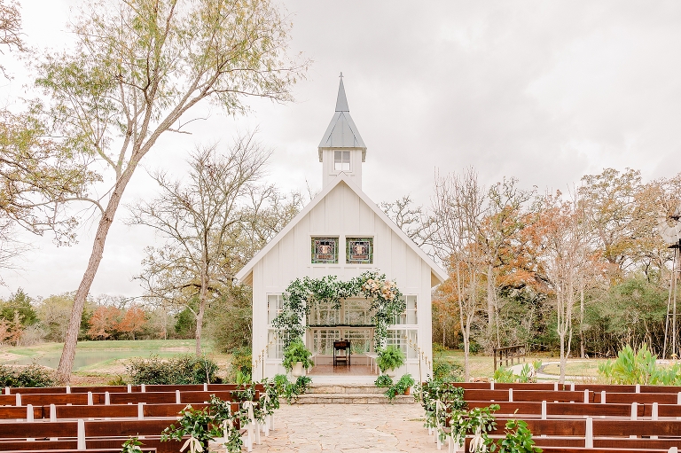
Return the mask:
<svg viewBox="0 0 681 453">
<path fill-rule="evenodd" d="M 484 256 L 478 244 L 481 234 L 484 189 L 473 169 L 463 175 L 435 176 L 433 199 L 435 251 L 448 263 L 450 279 L 443 291 L 458 303 L 459 322 L 464 337 L 464 379 L 470 378 L 468 356 L 471 328 L 481 309 L 481 277 Z"/>
</svg>

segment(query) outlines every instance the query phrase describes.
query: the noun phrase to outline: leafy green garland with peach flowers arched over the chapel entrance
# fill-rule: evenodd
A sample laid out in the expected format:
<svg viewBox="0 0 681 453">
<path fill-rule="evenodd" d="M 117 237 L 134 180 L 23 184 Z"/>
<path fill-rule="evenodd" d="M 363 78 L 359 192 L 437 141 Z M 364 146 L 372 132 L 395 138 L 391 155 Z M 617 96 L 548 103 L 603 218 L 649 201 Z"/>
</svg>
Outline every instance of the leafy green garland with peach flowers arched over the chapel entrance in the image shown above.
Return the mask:
<svg viewBox="0 0 681 453">
<path fill-rule="evenodd" d="M 387 326 L 394 323 L 395 316 L 403 313 L 407 303 L 395 282 L 378 271 L 367 270 L 348 282 L 342 282 L 336 276 L 296 278 L 284 291 L 284 309 L 272 324 L 283 333 L 281 337 L 287 348 L 291 341 L 305 333 L 303 320 L 309 315 L 311 306 L 327 302 L 333 304 L 333 309 L 340 309 L 341 300 L 357 296 L 372 301 L 374 346 L 381 348 L 387 338 Z"/>
</svg>

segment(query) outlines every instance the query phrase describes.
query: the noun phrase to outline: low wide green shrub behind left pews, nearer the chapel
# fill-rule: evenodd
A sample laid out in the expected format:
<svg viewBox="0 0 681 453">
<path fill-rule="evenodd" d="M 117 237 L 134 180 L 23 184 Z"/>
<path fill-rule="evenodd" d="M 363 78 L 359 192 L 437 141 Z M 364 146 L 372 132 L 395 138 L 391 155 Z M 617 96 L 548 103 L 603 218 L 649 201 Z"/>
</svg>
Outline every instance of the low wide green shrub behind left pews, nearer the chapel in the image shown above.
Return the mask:
<svg viewBox="0 0 681 453">
<path fill-rule="evenodd" d="M 133 385 L 221 382 L 215 376 L 217 363 L 206 357 L 190 354 L 178 355 L 169 360 L 161 360 L 158 355 L 152 355 L 148 359 L 133 358 L 126 368 Z"/>
</svg>

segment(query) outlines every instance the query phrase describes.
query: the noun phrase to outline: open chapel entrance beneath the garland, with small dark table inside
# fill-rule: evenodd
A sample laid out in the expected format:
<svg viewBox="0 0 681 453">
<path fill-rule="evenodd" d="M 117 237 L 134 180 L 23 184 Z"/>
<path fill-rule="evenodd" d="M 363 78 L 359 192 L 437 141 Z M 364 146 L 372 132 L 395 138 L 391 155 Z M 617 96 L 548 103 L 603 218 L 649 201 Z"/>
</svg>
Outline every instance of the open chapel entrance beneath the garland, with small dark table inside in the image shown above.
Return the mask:
<svg viewBox="0 0 681 453">
<path fill-rule="evenodd" d="M 309 374 L 377 374 L 373 335 L 371 301 L 344 299 L 340 309 L 334 309 L 331 302 L 318 302 L 308 317 L 306 342 L 315 363 Z M 339 354 L 334 342 L 338 341 L 349 343 L 347 363 L 334 361 L 334 355 Z"/>
</svg>

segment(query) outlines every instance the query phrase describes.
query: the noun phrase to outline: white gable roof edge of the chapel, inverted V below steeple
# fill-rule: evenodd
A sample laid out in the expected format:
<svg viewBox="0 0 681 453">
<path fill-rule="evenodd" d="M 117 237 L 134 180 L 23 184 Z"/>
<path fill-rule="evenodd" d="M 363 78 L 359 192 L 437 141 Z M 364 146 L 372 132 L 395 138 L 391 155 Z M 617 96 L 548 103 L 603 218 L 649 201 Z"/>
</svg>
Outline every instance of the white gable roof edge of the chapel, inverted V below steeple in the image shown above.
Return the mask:
<svg viewBox="0 0 681 453">
<path fill-rule="evenodd" d="M 348 187 L 356 193 L 356 195 L 366 203 L 368 207 L 370 207 L 375 215 L 378 215 L 380 219 L 387 224 L 387 226 L 390 228 L 390 230 L 393 230 L 393 232 L 402 238 L 402 240 L 413 250 L 416 254 L 419 255 L 419 258 L 421 258 L 424 262 L 427 263 L 427 265 L 431 269 L 431 283 L 433 282 L 433 277 L 437 283 L 442 283 L 444 282 L 447 278 L 449 278 L 449 275 L 447 275 L 447 272 L 445 272 L 440 266 L 438 266 L 433 259 L 426 254 L 423 250 L 421 250 L 421 247 L 417 246 L 414 241 L 409 238 L 403 230 L 401 230 L 390 218 L 384 213 L 383 211 L 380 210 L 380 208 L 370 199 L 359 187 L 356 186 L 355 183 L 353 183 L 350 178 L 345 174 L 345 173 L 340 173 L 338 176 L 336 176 L 336 179 L 333 180 L 331 184 L 327 184 L 325 189 L 321 191 L 315 199 L 310 201 L 308 203 L 308 206 L 304 207 L 298 215 L 294 217 L 294 219 L 289 222 L 286 227 L 279 231 L 278 235 L 272 238 L 272 240 L 268 243 L 267 246 L 264 246 L 260 252 L 255 254 L 255 256 L 247 263 L 246 266 L 243 267 L 243 269 L 239 270 L 237 273 L 236 277 L 239 279 L 239 281 L 244 282 L 244 283 L 251 283 L 252 282 L 252 274 L 253 274 L 253 268 L 257 262 L 262 260 L 262 258 L 270 252 L 274 246 L 278 244 L 278 242 L 288 234 L 289 231 L 293 230 L 295 225 L 301 221 L 305 215 L 308 215 L 314 207 L 316 207 L 319 202 L 323 199 L 325 199 L 326 195 L 329 194 L 329 192 L 333 191 L 333 188 L 336 187 L 338 184 L 344 183 L 348 185 Z"/>
</svg>

